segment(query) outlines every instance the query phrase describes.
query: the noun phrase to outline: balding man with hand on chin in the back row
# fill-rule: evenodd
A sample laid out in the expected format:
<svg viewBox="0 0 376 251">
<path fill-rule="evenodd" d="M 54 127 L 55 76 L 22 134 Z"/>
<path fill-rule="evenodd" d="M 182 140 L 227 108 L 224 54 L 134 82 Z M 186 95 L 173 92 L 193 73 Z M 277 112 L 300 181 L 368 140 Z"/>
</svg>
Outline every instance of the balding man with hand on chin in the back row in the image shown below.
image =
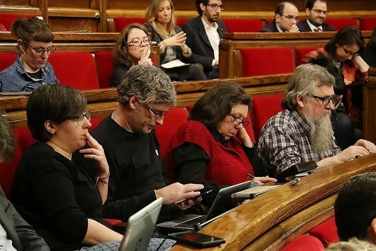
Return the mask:
<svg viewBox="0 0 376 251">
<path fill-rule="evenodd" d="M 281 2 L 274 12 L 274 20 L 266 24 L 260 32 L 299 32 L 296 25 L 299 21 L 299 10 L 291 2 Z"/>
</svg>

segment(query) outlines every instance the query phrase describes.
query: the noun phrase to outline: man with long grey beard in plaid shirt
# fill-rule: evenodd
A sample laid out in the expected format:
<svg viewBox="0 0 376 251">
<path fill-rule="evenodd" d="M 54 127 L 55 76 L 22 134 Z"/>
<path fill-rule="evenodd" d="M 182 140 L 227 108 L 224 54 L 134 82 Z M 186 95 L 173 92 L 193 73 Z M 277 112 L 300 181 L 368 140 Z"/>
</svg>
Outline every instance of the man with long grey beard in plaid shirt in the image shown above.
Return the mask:
<svg viewBox="0 0 376 251">
<path fill-rule="evenodd" d="M 275 177 L 295 163 L 317 161 L 330 167 L 357 155 L 376 152 L 374 143 L 360 139 L 341 152 L 333 135 L 331 110 L 335 78 L 323 67 L 298 66 L 285 90 L 283 110 L 263 126 L 257 153 L 269 177 Z"/>
</svg>

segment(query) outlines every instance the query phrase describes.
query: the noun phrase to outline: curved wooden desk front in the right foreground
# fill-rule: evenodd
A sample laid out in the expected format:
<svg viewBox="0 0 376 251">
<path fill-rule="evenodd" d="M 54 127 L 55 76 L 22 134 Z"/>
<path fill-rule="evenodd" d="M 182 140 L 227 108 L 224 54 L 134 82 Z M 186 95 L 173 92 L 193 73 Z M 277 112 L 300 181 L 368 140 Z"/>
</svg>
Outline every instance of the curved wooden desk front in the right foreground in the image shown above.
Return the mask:
<svg viewBox="0 0 376 251">
<path fill-rule="evenodd" d="M 376 154 L 287 183 L 205 226 L 199 233 L 224 238 L 220 247 L 205 250 L 278 251 L 296 237 L 334 216 L 338 191 L 352 176 L 376 171 Z M 195 250 L 183 245 L 172 251 Z"/>
</svg>

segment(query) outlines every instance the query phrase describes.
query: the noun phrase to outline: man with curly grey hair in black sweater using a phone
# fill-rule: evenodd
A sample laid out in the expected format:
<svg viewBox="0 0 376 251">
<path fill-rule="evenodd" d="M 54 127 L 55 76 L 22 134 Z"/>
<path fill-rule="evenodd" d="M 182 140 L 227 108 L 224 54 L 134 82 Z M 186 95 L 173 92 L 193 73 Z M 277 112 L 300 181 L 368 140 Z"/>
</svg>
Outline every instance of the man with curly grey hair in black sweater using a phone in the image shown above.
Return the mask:
<svg viewBox="0 0 376 251">
<path fill-rule="evenodd" d="M 162 197 L 159 222 L 182 215 L 194 202 L 175 202 L 199 195 L 200 184 L 168 185 L 154 128 L 176 105 L 170 78 L 158 67 L 136 65 L 117 87 L 119 106 L 92 132 L 103 146 L 110 166 L 108 199 L 104 217 L 127 221 L 128 217 Z M 110 205 L 112 206 L 110 207 Z M 117 210 L 111 210 L 117 208 Z M 123 210 L 122 210 L 123 209 Z M 122 212 L 115 215 L 115 212 Z"/>
</svg>

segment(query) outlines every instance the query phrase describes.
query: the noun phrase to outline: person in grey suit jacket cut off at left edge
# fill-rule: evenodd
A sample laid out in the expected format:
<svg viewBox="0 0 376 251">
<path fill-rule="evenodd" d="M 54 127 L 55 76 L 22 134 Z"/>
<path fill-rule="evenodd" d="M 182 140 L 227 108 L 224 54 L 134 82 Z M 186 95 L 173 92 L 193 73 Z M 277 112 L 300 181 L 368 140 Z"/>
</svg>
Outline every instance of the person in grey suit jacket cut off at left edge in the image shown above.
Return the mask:
<svg viewBox="0 0 376 251">
<path fill-rule="evenodd" d="M 14 153 L 14 140 L 9 125 L 0 114 L 0 162 Z M 50 251 L 47 244 L 25 222 L 5 198 L 0 187 L 0 250 Z"/>
</svg>

